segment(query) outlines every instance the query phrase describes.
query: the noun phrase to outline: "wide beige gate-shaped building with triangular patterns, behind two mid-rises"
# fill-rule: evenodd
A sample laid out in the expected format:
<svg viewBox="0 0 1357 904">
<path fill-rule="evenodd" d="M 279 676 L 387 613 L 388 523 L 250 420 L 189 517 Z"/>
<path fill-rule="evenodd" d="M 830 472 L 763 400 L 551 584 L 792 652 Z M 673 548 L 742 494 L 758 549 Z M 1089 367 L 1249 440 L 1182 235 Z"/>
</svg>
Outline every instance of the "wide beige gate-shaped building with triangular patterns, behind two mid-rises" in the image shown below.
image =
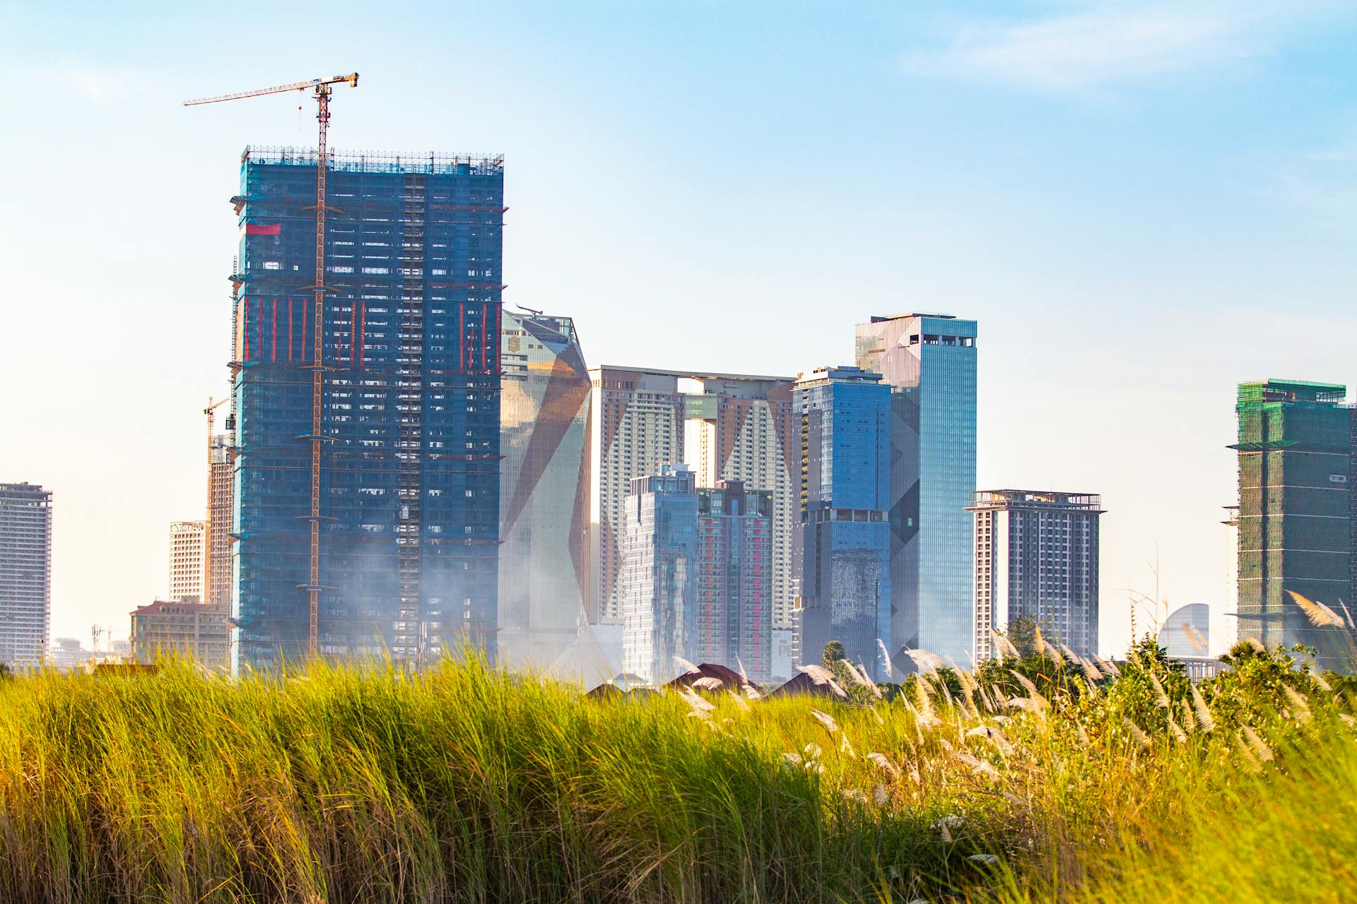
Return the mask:
<svg viewBox="0 0 1357 904">
<path fill-rule="evenodd" d="M 589 370 L 590 621 L 620 618 L 622 530 L 631 481 L 687 464 L 697 485 L 740 480 L 773 493 L 773 619 L 792 623 L 795 520 L 791 378 L 600 366 Z"/>
</svg>

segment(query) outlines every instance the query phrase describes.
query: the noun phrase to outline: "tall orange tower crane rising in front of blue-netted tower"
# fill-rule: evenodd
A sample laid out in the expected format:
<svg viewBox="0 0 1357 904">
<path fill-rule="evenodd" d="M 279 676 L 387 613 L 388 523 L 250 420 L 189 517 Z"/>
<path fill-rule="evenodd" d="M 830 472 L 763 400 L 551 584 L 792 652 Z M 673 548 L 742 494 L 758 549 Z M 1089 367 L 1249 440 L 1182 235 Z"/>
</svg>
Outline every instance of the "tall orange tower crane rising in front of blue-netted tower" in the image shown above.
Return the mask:
<svg viewBox="0 0 1357 904">
<path fill-rule="evenodd" d="M 223 100 L 240 100 L 243 98 L 258 98 L 269 94 L 286 94 L 289 91 L 311 91 L 316 100 L 316 121 L 320 123 L 320 137 L 316 142 L 316 285 L 309 286 L 315 291 L 315 328 L 311 335 L 312 344 L 311 363 L 311 434 L 303 439 L 311 440 L 311 514 L 307 520 L 311 525 L 311 571 L 305 584 L 300 588 L 307 591 L 309 602 L 309 630 L 307 634 L 308 652 L 312 657 L 319 652 L 319 622 L 320 622 L 320 447 L 326 440 L 323 424 L 320 423 L 320 398 L 324 388 L 323 374 L 327 367 L 323 363 L 324 343 L 324 294 L 334 291 L 326 286 L 326 211 L 334 210 L 326 205 L 326 169 L 328 169 L 328 156 L 326 150 L 326 136 L 330 130 L 330 95 L 331 85 L 347 84 L 358 87 L 358 73 L 350 72 L 346 76 L 331 76 L 328 79 L 312 79 L 309 81 L 293 81 L 271 88 L 255 88 L 254 91 L 240 91 L 236 94 L 218 95 L 216 98 L 198 98 L 185 100 L 183 106 L 197 107 L 205 103 L 221 103 Z"/>
</svg>

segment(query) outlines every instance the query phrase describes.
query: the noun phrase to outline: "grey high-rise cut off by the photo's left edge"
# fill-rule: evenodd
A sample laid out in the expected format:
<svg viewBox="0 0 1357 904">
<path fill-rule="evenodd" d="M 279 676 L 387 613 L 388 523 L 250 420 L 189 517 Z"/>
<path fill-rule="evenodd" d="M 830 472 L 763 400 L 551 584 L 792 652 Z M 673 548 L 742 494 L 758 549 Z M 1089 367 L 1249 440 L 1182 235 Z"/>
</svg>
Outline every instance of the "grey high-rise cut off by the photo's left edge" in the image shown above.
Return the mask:
<svg viewBox="0 0 1357 904">
<path fill-rule="evenodd" d="M 52 492 L 0 484 L 0 663 L 42 664 L 52 628 Z"/>
</svg>

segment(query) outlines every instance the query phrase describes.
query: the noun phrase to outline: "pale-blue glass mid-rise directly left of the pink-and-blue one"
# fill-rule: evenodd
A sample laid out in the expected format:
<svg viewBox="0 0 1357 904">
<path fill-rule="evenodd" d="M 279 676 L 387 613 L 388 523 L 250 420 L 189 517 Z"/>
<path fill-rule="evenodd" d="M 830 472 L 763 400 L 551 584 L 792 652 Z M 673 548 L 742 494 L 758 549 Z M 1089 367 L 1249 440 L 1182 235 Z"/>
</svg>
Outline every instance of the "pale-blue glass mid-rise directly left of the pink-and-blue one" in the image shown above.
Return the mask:
<svg viewBox="0 0 1357 904">
<path fill-rule="evenodd" d="M 651 684 L 683 671 L 697 636 L 697 488 L 684 465 L 631 481 L 623 529 L 622 667 Z"/>
</svg>

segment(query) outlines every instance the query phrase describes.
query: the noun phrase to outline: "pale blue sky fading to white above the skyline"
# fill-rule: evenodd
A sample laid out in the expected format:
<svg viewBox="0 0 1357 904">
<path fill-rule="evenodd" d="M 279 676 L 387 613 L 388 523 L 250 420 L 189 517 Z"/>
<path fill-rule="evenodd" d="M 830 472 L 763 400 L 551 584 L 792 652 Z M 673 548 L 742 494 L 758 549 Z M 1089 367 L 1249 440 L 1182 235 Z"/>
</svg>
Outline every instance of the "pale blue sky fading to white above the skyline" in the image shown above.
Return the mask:
<svg viewBox="0 0 1357 904">
<path fill-rule="evenodd" d="M 199 8 L 204 7 L 204 8 Z M 797 374 L 980 323 L 980 488 L 1102 493 L 1102 637 L 1225 629 L 1235 385 L 1357 385 L 1357 4 L 0 1 L 0 481 L 54 636 L 205 507 L 248 145 L 503 153 L 506 304 L 590 363 Z M 1156 611 L 1158 615 L 1156 615 Z"/>
</svg>

